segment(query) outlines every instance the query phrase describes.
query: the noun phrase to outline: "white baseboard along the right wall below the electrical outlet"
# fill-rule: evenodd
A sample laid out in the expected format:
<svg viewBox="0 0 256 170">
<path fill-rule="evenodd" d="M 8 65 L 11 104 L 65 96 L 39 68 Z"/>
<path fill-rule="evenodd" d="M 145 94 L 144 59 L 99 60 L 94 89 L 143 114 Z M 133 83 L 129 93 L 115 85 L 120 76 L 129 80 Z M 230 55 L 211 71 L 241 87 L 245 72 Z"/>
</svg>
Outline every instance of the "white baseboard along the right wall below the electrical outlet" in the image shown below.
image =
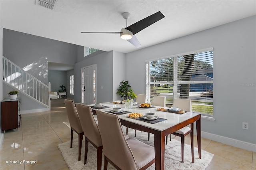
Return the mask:
<svg viewBox="0 0 256 170">
<path fill-rule="evenodd" d="M 208 133 L 208 132 L 201 132 L 202 138 L 207 138 L 210 140 L 214 140 L 220 143 L 224 143 L 224 144 L 228 144 L 231 146 L 235 146 L 238 148 L 242 148 L 245 150 L 250 150 L 253 152 L 256 152 L 256 144 L 252 144 L 249 142 L 244 142 L 241 140 L 236 140 L 233 138 L 228 138 L 228 137 L 224 137 L 224 136 L 219 136 L 217 134 L 212 134 L 212 133 Z"/>
</svg>

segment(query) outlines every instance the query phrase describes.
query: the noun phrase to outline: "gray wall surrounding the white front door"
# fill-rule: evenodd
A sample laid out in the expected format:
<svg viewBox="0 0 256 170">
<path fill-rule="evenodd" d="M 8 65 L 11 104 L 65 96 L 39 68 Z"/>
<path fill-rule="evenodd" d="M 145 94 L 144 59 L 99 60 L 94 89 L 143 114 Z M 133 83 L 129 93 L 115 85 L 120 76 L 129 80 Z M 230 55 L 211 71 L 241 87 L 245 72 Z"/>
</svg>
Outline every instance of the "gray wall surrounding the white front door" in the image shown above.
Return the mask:
<svg viewBox="0 0 256 170">
<path fill-rule="evenodd" d="M 82 46 L 81 46 L 82 48 Z M 107 102 L 113 99 L 113 51 L 103 52 L 96 56 L 88 55 L 74 65 L 74 102 L 81 103 L 81 68 L 97 65 L 96 102 Z M 103 89 L 101 89 L 101 86 Z"/>
</svg>

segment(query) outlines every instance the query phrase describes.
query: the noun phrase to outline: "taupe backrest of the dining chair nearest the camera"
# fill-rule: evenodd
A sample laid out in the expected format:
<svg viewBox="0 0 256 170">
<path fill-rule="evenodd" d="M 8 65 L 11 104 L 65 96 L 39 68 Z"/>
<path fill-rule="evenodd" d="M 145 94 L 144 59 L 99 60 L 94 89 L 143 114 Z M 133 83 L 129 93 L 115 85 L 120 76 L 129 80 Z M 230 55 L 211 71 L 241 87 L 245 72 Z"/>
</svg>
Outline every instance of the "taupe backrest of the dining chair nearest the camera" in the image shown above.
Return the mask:
<svg viewBox="0 0 256 170">
<path fill-rule="evenodd" d="M 96 112 L 104 155 L 122 170 L 138 169 L 117 115 Z"/>
</svg>

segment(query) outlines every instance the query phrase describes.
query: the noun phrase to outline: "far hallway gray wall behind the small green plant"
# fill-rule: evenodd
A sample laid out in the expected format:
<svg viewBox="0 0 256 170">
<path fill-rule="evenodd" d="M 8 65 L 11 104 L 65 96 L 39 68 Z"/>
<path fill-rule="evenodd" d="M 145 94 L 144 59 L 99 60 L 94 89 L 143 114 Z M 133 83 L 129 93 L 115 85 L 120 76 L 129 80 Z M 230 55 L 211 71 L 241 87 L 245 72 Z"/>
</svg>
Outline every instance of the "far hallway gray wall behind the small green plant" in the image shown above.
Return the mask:
<svg viewBox="0 0 256 170">
<path fill-rule="evenodd" d="M 55 71 L 49 70 L 49 82 L 51 82 L 51 91 L 59 94 L 60 86 L 66 84 L 67 72 L 66 71 Z M 68 83 L 69 84 L 69 83 Z"/>
</svg>

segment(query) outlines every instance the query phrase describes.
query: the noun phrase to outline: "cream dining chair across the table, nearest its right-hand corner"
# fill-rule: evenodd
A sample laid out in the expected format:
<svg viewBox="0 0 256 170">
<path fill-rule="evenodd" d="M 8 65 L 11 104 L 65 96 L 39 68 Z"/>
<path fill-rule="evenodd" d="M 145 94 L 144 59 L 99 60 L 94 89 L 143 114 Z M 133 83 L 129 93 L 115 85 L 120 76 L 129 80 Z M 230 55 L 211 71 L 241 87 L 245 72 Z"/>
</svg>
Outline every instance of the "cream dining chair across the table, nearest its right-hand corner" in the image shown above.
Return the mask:
<svg viewBox="0 0 256 170">
<path fill-rule="evenodd" d="M 173 106 L 178 107 L 184 111 L 188 111 L 191 112 L 192 111 L 192 104 L 191 104 L 191 100 L 190 99 L 174 99 L 173 100 Z M 172 134 L 176 135 L 176 136 L 180 136 L 181 137 L 181 162 L 184 162 L 184 139 L 185 136 L 190 134 L 192 132 L 193 127 L 192 125 L 188 125 L 186 127 L 183 127 L 179 130 L 177 130 L 176 132 L 173 132 Z M 168 140 L 168 135 L 166 136 L 166 144 L 167 144 L 167 140 Z M 171 134 L 170 134 L 170 140 L 171 140 Z M 194 136 L 190 135 L 190 140 L 191 140 L 191 152 L 192 152 L 192 148 L 194 148 Z M 192 154 L 192 162 L 194 163 L 194 158 L 193 158 Z"/>
</svg>

